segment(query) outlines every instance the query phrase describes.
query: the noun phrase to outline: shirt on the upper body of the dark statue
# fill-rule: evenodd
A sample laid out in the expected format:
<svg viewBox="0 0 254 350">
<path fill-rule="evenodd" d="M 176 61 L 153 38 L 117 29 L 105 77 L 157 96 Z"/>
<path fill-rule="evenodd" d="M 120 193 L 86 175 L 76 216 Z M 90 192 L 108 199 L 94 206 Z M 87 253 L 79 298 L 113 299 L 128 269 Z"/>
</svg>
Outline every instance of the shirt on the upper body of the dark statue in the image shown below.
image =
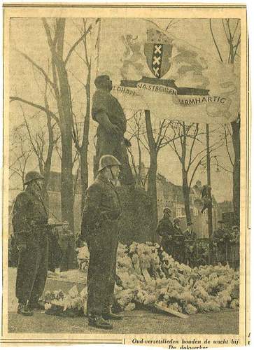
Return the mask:
<svg viewBox="0 0 254 350">
<path fill-rule="evenodd" d="M 92 118 L 97 121 L 97 113 L 104 112 L 112 124 L 118 126 L 120 132 L 126 132 L 126 117 L 118 99 L 105 90 L 97 90 L 92 98 Z M 99 126 L 100 128 L 100 126 Z M 98 129 L 99 131 L 99 129 Z"/>
</svg>

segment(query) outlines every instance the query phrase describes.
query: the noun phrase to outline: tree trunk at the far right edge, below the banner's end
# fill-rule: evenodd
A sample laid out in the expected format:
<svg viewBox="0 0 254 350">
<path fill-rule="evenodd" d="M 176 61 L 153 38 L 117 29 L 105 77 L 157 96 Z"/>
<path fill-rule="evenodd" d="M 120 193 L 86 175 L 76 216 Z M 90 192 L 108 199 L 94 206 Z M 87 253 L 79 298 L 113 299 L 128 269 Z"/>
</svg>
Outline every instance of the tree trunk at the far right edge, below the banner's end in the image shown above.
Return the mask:
<svg viewBox="0 0 254 350">
<path fill-rule="evenodd" d="M 233 207 L 234 221 L 236 225 L 240 223 L 240 122 L 231 123 L 232 142 L 234 146 L 234 166 L 233 166 Z"/>
</svg>

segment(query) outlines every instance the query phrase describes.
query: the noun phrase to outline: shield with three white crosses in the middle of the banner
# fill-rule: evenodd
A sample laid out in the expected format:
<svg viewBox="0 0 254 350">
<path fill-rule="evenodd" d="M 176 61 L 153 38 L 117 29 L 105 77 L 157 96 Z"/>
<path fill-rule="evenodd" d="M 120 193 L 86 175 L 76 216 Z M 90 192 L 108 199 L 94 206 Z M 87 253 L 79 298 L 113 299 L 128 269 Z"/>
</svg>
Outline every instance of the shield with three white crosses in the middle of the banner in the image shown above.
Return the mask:
<svg viewBox="0 0 254 350">
<path fill-rule="evenodd" d="M 144 44 L 146 62 L 155 78 L 162 78 L 171 66 L 173 45 L 167 35 L 157 29 L 148 29 L 147 38 Z"/>
</svg>

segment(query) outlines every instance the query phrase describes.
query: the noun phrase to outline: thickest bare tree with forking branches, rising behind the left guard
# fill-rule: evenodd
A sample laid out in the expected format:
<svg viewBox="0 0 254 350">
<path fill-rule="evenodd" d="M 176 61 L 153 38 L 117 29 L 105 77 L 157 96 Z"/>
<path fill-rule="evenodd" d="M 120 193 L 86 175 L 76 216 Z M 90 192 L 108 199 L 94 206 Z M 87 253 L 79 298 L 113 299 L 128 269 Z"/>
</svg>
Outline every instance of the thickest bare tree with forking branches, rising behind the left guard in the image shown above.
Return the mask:
<svg viewBox="0 0 254 350">
<path fill-rule="evenodd" d="M 10 97 L 11 101 L 20 101 L 36 109 L 40 109 L 47 113 L 55 120 L 59 126 L 61 133 L 61 204 L 62 204 L 62 220 L 69 221 L 73 229 L 73 176 L 72 176 L 72 142 L 73 142 L 73 111 L 71 105 L 71 89 L 69 86 L 69 76 L 67 72 L 67 64 L 71 55 L 77 46 L 82 43 L 83 38 L 91 30 L 89 26 L 85 32 L 71 45 L 71 48 L 64 55 L 64 36 L 66 29 L 65 18 L 55 18 L 51 20 L 51 26 L 45 18 L 43 18 L 43 27 L 45 29 L 48 47 L 50 49 L 50 74 L 45 69 L 36 64 L 34 60 L 22 53 L 31 65 L 43 76 L 44 80 L 50 87 L 50 92 L 57 105 L 57 113 L 51 111 L 49 106 L 41 106 L 41 104 L 27 101 L 21 97 Z"/>
</svg>

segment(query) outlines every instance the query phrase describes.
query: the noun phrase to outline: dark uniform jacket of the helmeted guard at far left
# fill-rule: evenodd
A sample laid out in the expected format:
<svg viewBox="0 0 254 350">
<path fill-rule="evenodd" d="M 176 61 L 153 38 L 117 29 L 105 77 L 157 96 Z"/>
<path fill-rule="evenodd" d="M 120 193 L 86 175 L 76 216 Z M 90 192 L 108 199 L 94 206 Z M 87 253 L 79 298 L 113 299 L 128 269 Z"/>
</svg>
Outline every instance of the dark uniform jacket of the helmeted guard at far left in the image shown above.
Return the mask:
<svg viewBox="0 0 254 350">
<path fill-rule="evenodd" d="M 35 228 L 31 225 L 32 221 Z M 27 244 L 31 237 L 43 235 L 43 225 L 48 223 L 48 213 L 41 195 L 29 187 L 17 195 L 12 223 L 17 244 Z"/>
</svg>

